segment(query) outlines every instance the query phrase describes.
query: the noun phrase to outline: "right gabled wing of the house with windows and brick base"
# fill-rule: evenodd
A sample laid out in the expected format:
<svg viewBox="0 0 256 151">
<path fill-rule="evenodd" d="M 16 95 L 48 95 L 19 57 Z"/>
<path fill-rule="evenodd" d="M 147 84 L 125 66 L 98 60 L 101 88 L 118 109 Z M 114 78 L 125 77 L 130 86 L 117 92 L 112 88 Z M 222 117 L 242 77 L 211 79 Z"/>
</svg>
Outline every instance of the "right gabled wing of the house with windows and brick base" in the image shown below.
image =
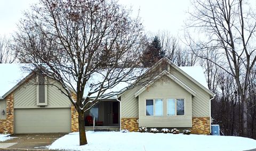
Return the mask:
<svg viewBox="0 0 256 151">
<path fill-rule="evenodd" d="M 160 70 L 153 82 L 119 96 L 121 129 L 136 131 L 146 126 L 210 134 L 214 94 L 207 86 L 202 67 L 178 67 L 162 58 L 152 68 Z"/>
</svg>

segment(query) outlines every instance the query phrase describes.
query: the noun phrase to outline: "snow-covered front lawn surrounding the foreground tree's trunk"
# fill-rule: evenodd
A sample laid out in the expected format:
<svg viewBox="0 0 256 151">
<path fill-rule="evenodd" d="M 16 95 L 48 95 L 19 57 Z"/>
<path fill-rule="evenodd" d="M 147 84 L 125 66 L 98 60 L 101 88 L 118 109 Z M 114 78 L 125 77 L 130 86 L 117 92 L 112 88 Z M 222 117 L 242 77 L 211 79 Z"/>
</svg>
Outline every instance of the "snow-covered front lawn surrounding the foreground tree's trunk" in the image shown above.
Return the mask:
<svg viewBox="0 0 256 151">
<path fill-rule="evenodd" d="M 173 135 L 171 133 L 86 132 L 88 144 L 79 146 L 78 132 L 53 142 L 60 150 L 248 150 L 256 140 L 231 136 Z"/>
</svg>

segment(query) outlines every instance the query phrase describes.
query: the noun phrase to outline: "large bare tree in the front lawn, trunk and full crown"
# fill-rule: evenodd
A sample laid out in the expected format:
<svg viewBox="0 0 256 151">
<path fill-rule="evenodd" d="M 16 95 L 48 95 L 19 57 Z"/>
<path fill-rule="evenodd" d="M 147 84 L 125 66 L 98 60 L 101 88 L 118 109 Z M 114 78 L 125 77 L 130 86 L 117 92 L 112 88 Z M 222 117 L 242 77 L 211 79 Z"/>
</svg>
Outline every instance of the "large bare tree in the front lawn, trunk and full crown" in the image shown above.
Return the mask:
<svg viewBox="0 0 256 151">
<path fill-rule="evenodd" d="M 137 69 L 141 32 L 139 18 L 111 0 L 41 0 L 20 21 L 15 51 L 61 83 L 78 112 L 80 145 L 87 144 L 84 112 L 132 88 L 115 89 L 144 72 Z"/>
</svg>

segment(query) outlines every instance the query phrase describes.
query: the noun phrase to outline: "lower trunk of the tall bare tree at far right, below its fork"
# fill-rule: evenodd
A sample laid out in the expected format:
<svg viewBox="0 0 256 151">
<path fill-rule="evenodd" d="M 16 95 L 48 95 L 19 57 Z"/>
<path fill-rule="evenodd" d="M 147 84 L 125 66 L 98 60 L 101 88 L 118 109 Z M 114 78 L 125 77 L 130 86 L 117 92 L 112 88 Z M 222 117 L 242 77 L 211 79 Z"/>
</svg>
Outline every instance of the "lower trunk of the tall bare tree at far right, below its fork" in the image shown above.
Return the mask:
<svg viewBox="0 0 256 151">
<path fill-rule="evenodd" d="M 242 95 L 243 102 L 243 137 L 248 137 L 248 126 L 247 126 L 247 95 Z"/>
</svg>

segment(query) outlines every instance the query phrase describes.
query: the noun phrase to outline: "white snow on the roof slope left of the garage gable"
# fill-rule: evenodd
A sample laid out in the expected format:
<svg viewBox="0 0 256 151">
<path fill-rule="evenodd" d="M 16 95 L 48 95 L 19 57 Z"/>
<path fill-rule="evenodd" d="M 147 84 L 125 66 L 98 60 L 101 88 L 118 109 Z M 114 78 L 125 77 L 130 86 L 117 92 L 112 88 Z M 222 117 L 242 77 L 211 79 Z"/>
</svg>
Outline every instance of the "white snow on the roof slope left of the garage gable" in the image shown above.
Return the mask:
<svg viewBox="0 0 256 151">
<path fill-rule="evenodd" d="M 29 74 L 21 66 L 23 64 L 0 64 L 0 99 Z"/>
</svg>

